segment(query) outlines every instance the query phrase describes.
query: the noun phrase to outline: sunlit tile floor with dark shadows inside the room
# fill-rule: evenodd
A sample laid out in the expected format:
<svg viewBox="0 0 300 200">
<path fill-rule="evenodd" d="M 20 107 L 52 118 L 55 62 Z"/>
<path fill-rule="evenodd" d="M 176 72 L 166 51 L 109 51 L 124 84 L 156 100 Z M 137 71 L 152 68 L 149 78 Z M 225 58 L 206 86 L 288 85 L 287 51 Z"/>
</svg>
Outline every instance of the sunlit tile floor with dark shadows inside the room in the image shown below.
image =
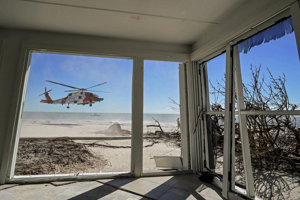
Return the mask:
<svg viewBox="0 0 300 200">
<path fill-rule="evenodd" d="M 197 174 L 185 174 L 84 182 L 6 184 L 0 186 L 0 199 L 222 200 L 224 198 L 221 190 L 212 184 L 199 181 Z"/>
</svg>

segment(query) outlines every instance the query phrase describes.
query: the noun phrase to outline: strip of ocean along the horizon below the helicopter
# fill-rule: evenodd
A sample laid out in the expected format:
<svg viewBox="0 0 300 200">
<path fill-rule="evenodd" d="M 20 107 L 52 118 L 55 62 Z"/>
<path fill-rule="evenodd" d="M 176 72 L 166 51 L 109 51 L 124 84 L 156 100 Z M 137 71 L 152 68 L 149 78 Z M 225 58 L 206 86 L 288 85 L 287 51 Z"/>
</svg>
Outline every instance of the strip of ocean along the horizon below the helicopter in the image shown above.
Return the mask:
<svg viewBox="0 0 300 200">
<path fill-rule="evenodd" d="M 97 113 L 99 116 L 91 116 L 94 113 L 63 113 L 63 112 L 23 112 L 22 120 L 51 121 L 51 122 L 118 122 L 131 123 L 131 113 Z M 143 114 L 143 123 L 177 124 L 178 114 Z"/>
</svg>

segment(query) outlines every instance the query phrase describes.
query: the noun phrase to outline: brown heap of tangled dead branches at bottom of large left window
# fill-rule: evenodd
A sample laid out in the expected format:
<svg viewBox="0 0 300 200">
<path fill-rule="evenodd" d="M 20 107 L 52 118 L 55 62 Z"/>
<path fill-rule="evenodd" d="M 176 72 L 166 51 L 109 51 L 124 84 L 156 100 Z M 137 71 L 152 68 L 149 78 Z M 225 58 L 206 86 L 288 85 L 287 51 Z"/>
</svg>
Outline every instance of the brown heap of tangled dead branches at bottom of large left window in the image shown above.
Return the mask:
<svg viewBox="0 0 300 200">
<path fill-rule="evenodd" d="M 72 140 L 20 140 L 15 175 L 70 173 L 81 163 L 88 167 L 94 160 L 104 164 L 85 145 Z"/>
</svg>

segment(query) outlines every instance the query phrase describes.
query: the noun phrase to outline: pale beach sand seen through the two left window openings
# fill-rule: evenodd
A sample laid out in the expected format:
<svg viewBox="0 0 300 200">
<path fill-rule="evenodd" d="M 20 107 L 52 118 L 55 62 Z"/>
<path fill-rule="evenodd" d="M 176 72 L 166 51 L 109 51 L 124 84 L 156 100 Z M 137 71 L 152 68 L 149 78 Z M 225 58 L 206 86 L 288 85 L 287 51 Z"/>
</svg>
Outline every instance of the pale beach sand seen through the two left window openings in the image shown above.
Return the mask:
<svg viewBox="0 0 300 200">
<path fill-rule="evenodd" d="M 21 140 L 34 140 L 35 138 L 48 138 L 55 139 L 59 137 L 70 137 L 77 138 L 73 139 L 77 143 L 94 143 L 98 140 L 87 139 L 89 137 L 101 137 L 101 141 L 98 144 L 111 145 L 111 146 L 131 146 L 131 123 L 120 123 L 121 128 L 125 132 L 125 135 L 118 134 L 117 132 L 108 133 L 106 130 L 113 125 L 112 122 L 88 122 L 83 121 L 79 123 L 68 123 L 68 122 L 50 122 L 50 121 L 22 121 L 20 138 Z M 146 127 L 148 124 L 144 124 L 144 134 L 149 131 Z M 174 129 L 172 125 L 163 125 L 164 131 L 171 131 Z M 152 132 L 159 130 L 159 128 L 151 128 Z M 122 133 L 123 133 L 122 132 Z M 112 139 L 112 136 L 114 139 Z M 83 140 L 78 138 L 83 137 Z M 122 137 L 122 138 L 121 138 Z M 121 138 L 121 139 L 118 139 Z M 125 139 L 124 139 L 125 138 Z M 68 139 L 68 138 L 65 138 Z M 143 146 L 153 143 L 153 139 L 144 138 Z M 86 145 L 88 150 L 98 158 L 101 158 L 102 162 L 96 161 L 94 158 L 91 166 L 66 166 L 60 168 L 54 173 L 97 173 L 97 172 L 128 172 L 131 167 L 131 148 L 109 148 Z M 143 170 L 155 170 L 163 169 L 158 168 L 155 165 L 153 156 L 180 156 L 181 149 L 175 143 L 164 140 L 158 140 L 151 147 L 143 148 Z M 18 163 L 18 161 L 17 161 Z M 73 167 L 73 169 L 72 169 Z M 23 174 L 25 175 L 25 174 Z"/>
</svg>

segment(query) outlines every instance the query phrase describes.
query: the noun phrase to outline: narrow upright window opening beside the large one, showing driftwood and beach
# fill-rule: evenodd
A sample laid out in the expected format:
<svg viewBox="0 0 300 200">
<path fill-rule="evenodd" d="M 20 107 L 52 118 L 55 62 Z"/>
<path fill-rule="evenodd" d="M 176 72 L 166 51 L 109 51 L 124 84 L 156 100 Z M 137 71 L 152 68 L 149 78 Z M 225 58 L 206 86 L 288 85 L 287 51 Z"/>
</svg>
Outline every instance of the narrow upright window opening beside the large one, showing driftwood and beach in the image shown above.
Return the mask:
<svg viewBox="0 0 300 200">
<path fill-rule="evenodd" d="M 144 61 L 143 171 L 181 165 L 178 66 Z M 159 160 L 151 159 L 154 156 L 167 157 L 156 164 Z"/>
</svg>

